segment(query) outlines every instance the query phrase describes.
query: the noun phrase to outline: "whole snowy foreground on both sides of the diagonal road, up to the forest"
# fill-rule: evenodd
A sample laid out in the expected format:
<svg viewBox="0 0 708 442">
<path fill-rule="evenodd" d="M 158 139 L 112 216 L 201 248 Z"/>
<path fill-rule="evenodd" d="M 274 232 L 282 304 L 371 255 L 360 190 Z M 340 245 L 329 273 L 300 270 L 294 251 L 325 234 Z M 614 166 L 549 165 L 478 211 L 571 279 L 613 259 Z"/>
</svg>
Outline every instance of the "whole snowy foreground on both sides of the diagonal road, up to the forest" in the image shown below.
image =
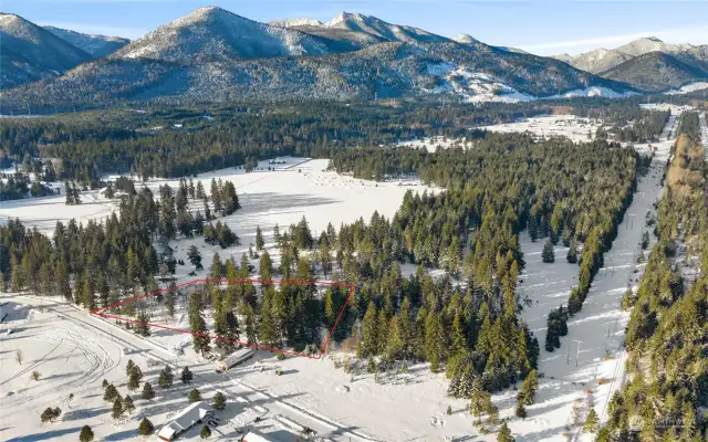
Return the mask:
<svg viewBox="0 0 708 442">
<path fill-rule="evenodd" d="M 336 369 L 331 357 L 277 360 L 259 351 L 254 360 L 217 373 L 216 362 L 198 358 L 190 348 L 175 356 L 152 338 L 137 337 L 73 306 L 13 295 L 3 295 L 0 302 L 10 303 L 7 326 L 14 330 L 7 336 L 3 327 L 0 336 L 0 436 L 6 441 L 75 440 L 84 424 L 92 427 L 96 440 L 134 440 L 143 417 L 159 429 L 187 406 L 191 388 L 207 400 L 217 391 L 227 396 L 229 406 L 218 412 L 223 421 L 214 431 L 218 440 L 236 440 L 237 429 L 244 428 L 282 442 L 294 440 L 304 427 L 315 430 L 319 441 L 465 440 L 473 432 L 467 401 L 447 398 L 445 376 L 430 373 L 426 365 L 410 366 L 406 373 L 381 375 L 377 382 L 364 370 L 352 377 Z M 14 360 L 17 348 L 23 350 L 22 365 Z M 332 357 L 340 358 L 336 352 Z M 128 359 L 140 366 L 157 396 L 148 401 L 139 398 L 139 390 L 131 393 L 136 411 L 116 423 L 111 404 L 102 399 L 101 382 L 105 378 L 121 394 L 128 393 Z M 148 360 L 162 364 L 150 366 Z M 188 365 L 194 382 L 181 385 L 175 368 L 175 385 L 159 388 L 164 364 Z M 39 381 L 30 380 L 32 370 L 41 372 Z M 452 415 L 446 414 L 448 406 Z M 63 417 L 40 425 L 39 414 L 46 407 L 60 407 Z M 198 433 L 199 428 L 179 439 L 198 440 Z"/>
</svg>

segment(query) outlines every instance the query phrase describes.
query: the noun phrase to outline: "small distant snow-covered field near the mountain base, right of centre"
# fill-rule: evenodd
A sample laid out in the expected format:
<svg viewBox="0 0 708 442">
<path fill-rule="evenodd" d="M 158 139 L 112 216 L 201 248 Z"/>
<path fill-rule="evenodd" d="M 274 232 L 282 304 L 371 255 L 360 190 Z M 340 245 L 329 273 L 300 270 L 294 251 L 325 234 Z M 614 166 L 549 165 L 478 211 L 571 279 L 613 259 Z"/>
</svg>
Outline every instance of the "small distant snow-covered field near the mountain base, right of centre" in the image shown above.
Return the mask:
<svg viewBox="0 0 708 442">
<path fill-rule="evenodd" d="M 566 137 L 575 143 L 590 141 L 601 124 L 575 115 L 543 115 L 516 123 L 483 126 L 480 129 L 499 133 L 531 133 L 540 138 Z"/>
</svg>

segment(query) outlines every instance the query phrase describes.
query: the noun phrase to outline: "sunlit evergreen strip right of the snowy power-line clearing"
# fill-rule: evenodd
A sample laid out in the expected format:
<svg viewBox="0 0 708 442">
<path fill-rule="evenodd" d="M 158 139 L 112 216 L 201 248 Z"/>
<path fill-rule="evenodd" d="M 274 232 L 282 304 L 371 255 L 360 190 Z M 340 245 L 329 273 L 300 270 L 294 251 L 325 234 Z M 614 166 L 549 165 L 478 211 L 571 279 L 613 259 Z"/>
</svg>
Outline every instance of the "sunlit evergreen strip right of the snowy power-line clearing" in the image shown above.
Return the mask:
<svg viewBox="0 0 708 442">
<path fill-rule="evenodd" d="M 708 210 L 705 151 L 686 114 L 658 204 L 626 333 L 629 381 L 608 406 L 598 441 L 705 441 L 708 436 Z M 685 249 L 685 250 L 684 250 Z M 690 270 L 690 271 L 688 271 Z M 690 275 L 694 276 L 690 276 Z"/>
</svg>

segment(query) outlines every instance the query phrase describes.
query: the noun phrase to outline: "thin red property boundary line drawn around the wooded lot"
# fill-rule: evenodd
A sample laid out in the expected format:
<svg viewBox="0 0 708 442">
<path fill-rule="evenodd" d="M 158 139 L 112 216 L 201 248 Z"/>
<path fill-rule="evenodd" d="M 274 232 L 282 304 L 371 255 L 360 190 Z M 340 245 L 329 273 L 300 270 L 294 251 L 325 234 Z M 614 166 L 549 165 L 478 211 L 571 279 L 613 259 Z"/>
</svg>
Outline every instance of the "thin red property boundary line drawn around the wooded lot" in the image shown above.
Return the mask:
<svg viewBox="0 0 708 442">
<path fill-rule="evenodd" d="M 186 286 L 189 286 L 189 285 L 192 285 L 192 284 L 216 284 L 216 283 L 219 283 L 219 284 L 221 284 L 221 283 L 240 283 L 240 284 L 244 284 L 244 283 L 252 283 L 252 284 L 314 284 L 314 285 L 326 285 L 326 286 L 336 286 L 336 287 L 348 287 L 350 288 L 350 294 L 346 297 L 346 301 L 344 302 L 344 305 L 342 306 L 342 309 L 340 311 L 340 314 L 337 315 L 336 320 L 334 322 L 334 326 L 332 326 L 332 329 L 330 330 L 330 335 L 327 336 L 326 340 L 324 341 L 324 344 L 320 348 L 320 354 L 317 356 L 306 355 L 304 352 L 296 352 L 296 351 L 285 350 L 285 349 L 282 349 L 282 348 L 271 348 L 271 347 L 262 346 L 262 345 L 259 345 L 259 344 L 248 344 L 248 343 L 243 343 L 243 341 L 236 340 L 236 339 L 220 338 L 220 337 L 218 337 L 216 335 L 209 335 L 209 334 L 206 334 L 206 333 L 192 333 L 192 332 L 189 332 L 189 330 L 185 330 L 183 328 L 167 327 L 167 326 L 162 325 L 162 324 L 142 323 L 142 322 L 139 322 L 137 319 L 132 319 L 132 318 L 126 318 L 126 317 L 118 316 L 118 315 L 110 315 L 110 314 L 106 314 L 106 313 L 102 313 L 103 311 L 106 311 L 108 308 L 118 307 L 121 305 L 128 304 L 128 303 L 134 303 L 136 301 L 145 299 L 145 298 L 148 298 L 150 296 L 155 296 L 155 295 L 157 295 L 159 293 L 173 291 L 175 288 L 186 287 Z M 184 333 L 184 334 L 187 334 L 187 335 L 202 336 L 202 337 L 207 337 L 207 338 L 216 339 L 216 340 L 226 340 L 226 341 L 229 341 L 229 343 L 236 343 L 236 344 L 240 344 L 242 346 L 258 348 L 258 349 L 262 349 L 262 350 L 277 351 L 277 352 L 282 352 L 282 354 L 292 355 L 292 356 L 300 356 L 300 357 L 308 358 L 308 359 L 322 359 L 322 356 L 324 355 L 324 351 L 326 351 L 327 346 L 330 345 L 330 341 L 332 340 L 332 336 L 334 334 L 334 330 L 336 329 L 336 326 L 340 324 L 340 319 L 342 319 L 342 315 L 344 314 L 344 309 L 346 308 L 346 306 L 348 305 L 350 301 L 354 296 L 354 288 L 355 288 L 354 284 L 333 283 L 333 282 L 329 282 L 329 281 L 288 281 L 288 280 L 285 280 L 285 281 L 283 281 L 283 280 L 280 280 L 280 281 L 278 281 L 278 280 L 261 281 L 261 280 L 217 280 L 217 278 L 192 280 L 192 281 L 188 281 L 186 283 L 181 283 L 181 284 L 175 285 L 173 287 L 160 288 L 157 292 L 148 293 L 147 295 L 134 296 L 132 298 L 121 301 L 119 303 L 111 304 L 111 305 L 108 305 L 106 307 L 96 308 L 95 311 L 91 311 L 90 314 L 91 315 L 95 315 L 95 316 L 101 316 L 101 317 L 104 317 L 104 318 L 125 320 L 126 323 L 148 325 L 148 326 L 154 327 L 154 328 L 163 328 L 165 330 L 178 332 L 178 333 Z"/>
</svg>

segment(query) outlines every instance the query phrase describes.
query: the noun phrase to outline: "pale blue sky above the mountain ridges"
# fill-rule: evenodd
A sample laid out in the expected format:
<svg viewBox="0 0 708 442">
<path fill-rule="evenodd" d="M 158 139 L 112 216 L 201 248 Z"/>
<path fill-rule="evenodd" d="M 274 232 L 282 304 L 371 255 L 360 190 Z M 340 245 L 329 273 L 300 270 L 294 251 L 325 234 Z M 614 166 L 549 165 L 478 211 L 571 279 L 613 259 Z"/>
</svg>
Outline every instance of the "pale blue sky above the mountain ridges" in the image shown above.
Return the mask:
<svg viewBox="0 0 708 442">
<path fill-rule="evenodd" d="M 2 11 L 39 24 L 137 39 L 209 4 L 259 21 L 327 21 L 342 10 L 361 12 L 447 36 L 465 32 L 485 43 L 541 55 L 615 48 L 648 35 L 670 43 L 708 43 L 706 1 L 3 0 Z"/>
</svg>

